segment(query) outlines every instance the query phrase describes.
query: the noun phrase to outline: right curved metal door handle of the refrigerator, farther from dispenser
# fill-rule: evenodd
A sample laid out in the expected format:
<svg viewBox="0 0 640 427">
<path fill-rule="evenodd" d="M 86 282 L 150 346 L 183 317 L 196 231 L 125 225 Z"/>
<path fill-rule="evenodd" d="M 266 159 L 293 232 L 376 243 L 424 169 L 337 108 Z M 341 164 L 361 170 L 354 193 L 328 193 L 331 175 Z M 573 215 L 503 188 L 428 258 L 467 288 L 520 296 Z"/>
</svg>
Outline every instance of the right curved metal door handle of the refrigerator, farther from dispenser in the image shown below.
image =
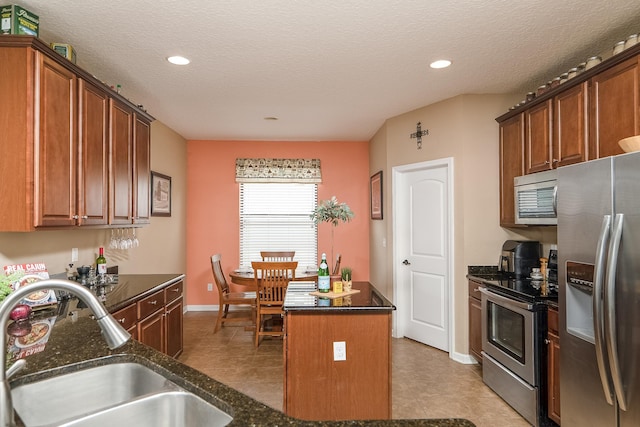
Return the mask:
<svg viewBox="0 0 640 427">
<path fill-rule="evenodd" d="M 611 378 L 613 388 L 618 397 L 618 406 L 623 411 L 627 410 L 627 401 L 622 387 L 622 373 L 620 372 L 620 359 L 618 358 L 618 339 L 616 335 L 616 273 L 618 270 L 618 254 L 620 251 L 620 240 L 622 239 L 622 225 L 624 214 L 616 214 L 611 232 L 611 244 L 609 246 L 609 257 L 607 259 L 607 280 L 604 293 L 604 326 L 605 339 L 607 341 L 607 353 L 609 355 L 609 366 L 611 367 Z"/>
</svg>

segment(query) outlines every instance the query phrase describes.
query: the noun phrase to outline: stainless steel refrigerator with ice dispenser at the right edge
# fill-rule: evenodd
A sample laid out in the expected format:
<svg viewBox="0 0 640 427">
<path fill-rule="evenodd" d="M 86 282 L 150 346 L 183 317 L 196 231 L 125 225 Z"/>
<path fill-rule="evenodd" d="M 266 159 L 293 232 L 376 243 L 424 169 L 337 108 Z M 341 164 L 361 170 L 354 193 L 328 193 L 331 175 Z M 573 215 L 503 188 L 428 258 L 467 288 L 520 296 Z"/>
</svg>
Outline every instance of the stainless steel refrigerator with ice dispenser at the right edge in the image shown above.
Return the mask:
<svg viewBox="0 0 640 427">
<path fill-rule="evenodd" d="M 640 426 L 640 152 L 558 169 L 563 426 Z"/>
</svg>

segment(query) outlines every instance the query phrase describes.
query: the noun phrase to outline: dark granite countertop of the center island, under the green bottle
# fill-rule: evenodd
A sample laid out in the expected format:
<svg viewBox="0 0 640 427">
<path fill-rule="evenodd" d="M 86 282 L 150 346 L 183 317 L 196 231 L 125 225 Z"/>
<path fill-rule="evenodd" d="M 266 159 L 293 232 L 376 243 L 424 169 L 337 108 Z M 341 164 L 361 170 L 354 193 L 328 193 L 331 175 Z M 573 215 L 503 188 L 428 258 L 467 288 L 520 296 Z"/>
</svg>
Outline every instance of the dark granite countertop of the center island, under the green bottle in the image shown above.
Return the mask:
<svg viewBox="0 0 640 427">
<path fill-rule="evenodd" d="M 371 283 L 353 282 L 354 293 L 340 295 L 332 298 L 326 296 L 311 295 L 316 291 L 315 282 L 292 283 L 287 287 L 287 294 L 284 299 L 284 311 L 326 311 L 326 312 L 367 312 L 371 311 L 392 311 L 396 307 L 386 299 Z M 357 291 L 357 292 L 356 292 Z"/>
</svg>

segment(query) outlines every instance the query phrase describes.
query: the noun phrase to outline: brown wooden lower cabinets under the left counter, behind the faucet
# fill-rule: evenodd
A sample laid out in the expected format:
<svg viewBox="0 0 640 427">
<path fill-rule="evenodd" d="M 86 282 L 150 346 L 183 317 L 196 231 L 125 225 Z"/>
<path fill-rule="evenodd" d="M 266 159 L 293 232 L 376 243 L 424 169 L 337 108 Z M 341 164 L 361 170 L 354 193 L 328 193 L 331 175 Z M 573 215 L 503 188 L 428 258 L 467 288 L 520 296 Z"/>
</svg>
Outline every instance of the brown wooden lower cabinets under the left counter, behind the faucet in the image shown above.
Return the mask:
<svg viewBox="0 0 640 427">
<path fill-rule="evenodd" d="M 113 313 L 131 336 L 160 352 L 177 357 L 183 349 L 183 282 L 168 285 Z"/>
</svg>

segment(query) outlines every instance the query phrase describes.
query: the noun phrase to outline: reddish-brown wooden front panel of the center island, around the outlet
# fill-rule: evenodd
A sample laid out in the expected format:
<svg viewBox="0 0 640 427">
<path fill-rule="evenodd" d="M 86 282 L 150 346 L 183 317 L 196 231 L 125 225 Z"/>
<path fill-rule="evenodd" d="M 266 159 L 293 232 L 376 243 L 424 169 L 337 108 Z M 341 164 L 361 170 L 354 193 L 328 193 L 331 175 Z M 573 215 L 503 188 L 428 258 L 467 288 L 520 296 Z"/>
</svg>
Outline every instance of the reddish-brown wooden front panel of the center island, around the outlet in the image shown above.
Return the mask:
<svg viewBox="0 0 640 427">
<path fill-rule="evenodd" d="M 305 420 L 391 418 L 391 312 L 287 312 L 284 409 Z M 346 360 L 334 360 L 344 342 Z"/>
</svg>

